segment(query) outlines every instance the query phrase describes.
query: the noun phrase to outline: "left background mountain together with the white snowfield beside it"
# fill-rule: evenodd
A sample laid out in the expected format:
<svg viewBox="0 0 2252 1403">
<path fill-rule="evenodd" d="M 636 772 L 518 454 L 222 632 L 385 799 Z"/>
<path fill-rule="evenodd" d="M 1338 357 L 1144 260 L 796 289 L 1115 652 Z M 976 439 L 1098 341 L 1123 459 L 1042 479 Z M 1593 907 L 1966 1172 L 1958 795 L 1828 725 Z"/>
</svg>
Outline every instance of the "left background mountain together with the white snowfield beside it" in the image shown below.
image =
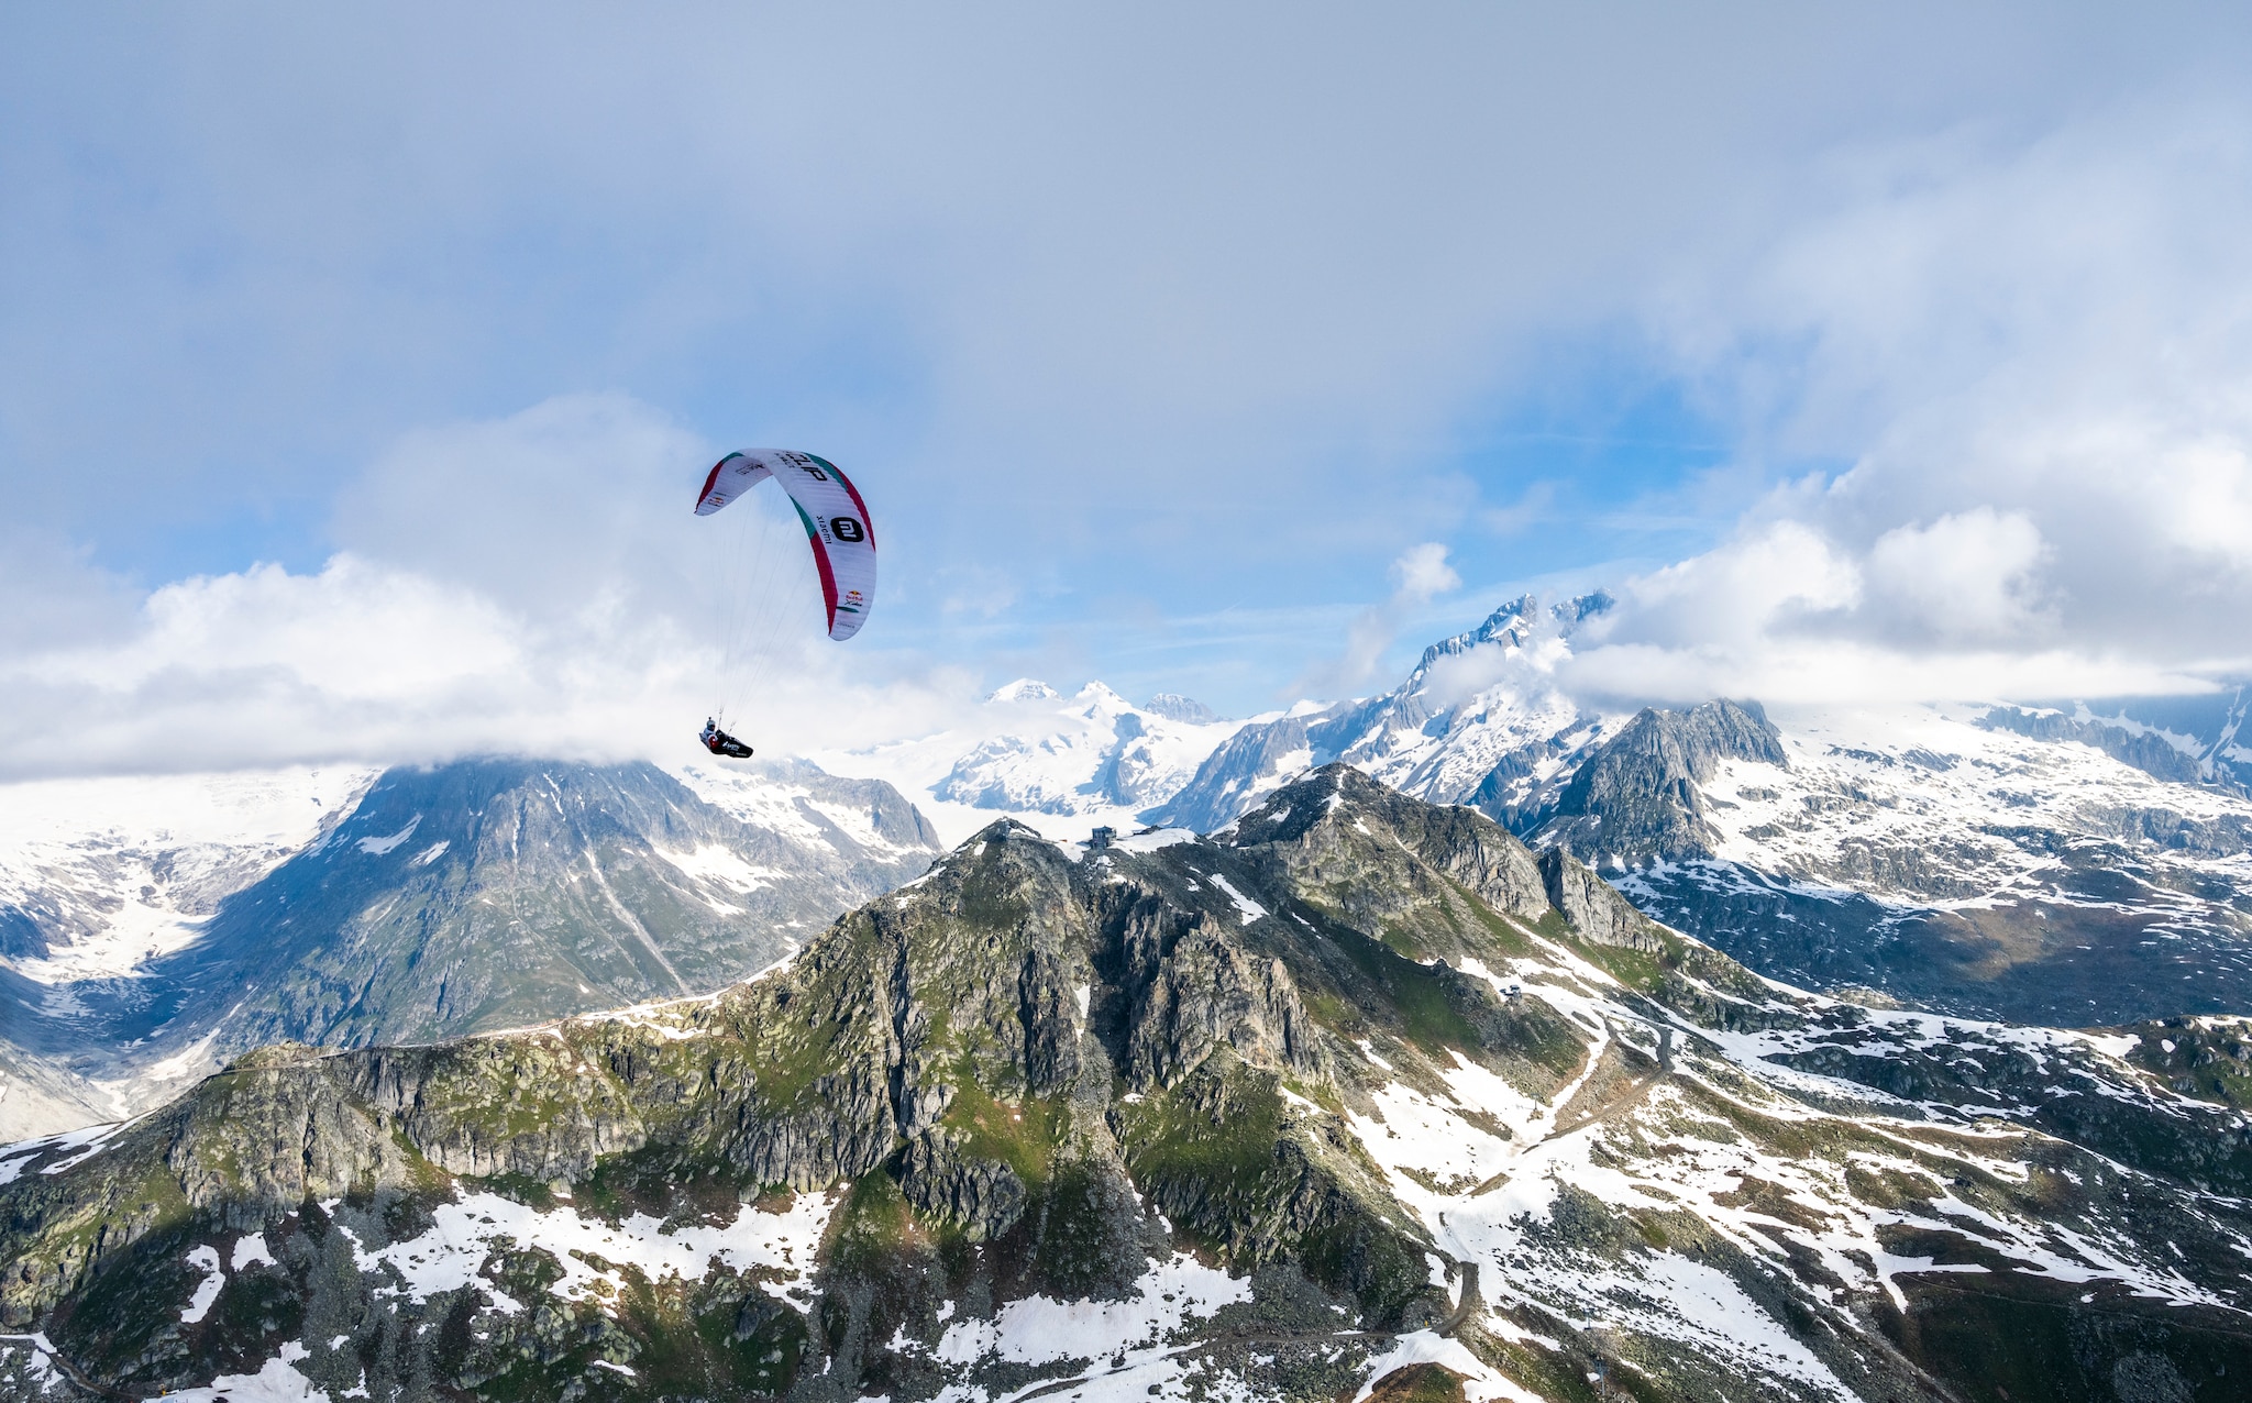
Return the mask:
<svg viewBox="0 0 2252 1403">
<path fill-rule="evenodd" d="M 894 788 L 804 761 L 47 781 L 0 811 L 0 1133 L 272 1040 L 718 989 L 939 851 Z"/>
</svg>

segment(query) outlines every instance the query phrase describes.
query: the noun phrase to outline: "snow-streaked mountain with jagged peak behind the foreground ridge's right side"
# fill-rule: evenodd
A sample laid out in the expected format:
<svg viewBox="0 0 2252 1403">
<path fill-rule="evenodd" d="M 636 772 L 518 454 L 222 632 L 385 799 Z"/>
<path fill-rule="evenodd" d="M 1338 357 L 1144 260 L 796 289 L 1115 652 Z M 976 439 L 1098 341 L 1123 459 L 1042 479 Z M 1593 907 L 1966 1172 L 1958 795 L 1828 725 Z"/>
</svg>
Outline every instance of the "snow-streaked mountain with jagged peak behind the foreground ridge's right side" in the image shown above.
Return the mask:
<svg viewBox="0 0 2252 1403">
<path fill-rule="evenodd" d="M 1770 977 L 2063 1025 L 2252 1009 L 2247 691 L 1585 707 L 1558 664 L 1608 606 L 1516 599 L 1392 691 L 1243 725 L 1149 817 L 1214 831 L 1342 759 Z"/>
</svg>

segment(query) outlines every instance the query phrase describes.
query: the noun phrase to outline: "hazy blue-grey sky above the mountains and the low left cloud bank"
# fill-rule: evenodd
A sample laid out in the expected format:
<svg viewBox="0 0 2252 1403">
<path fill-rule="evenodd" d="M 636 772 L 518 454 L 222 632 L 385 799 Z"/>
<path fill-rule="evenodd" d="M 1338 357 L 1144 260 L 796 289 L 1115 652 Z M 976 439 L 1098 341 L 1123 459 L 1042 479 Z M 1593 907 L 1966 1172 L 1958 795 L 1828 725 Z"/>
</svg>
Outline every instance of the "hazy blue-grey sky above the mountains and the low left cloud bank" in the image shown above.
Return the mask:
<svg viewBox="0 0 2252 1403">
<path fill-rule="evenodd" d="M 878 624 L 822 662 L 860 687 L 1241 714 L 1594 583 L 1612 691 L 1808 637 L 1840 689 L 2193 682 L 2252 651 L 2245 47 L 2232 7 L 11 7 L 0 662 L 83 707 L 59 649 L 338 552 L 527 635 L 691 631 L 669 531 L 761 444 L 876 504 Z M 558 423 L 570 473 L 504 448 Z M 2128 471 L 2184 507 L 2121 527 Z M 1398 599 L 1423 543 L 1462 586 Z"/>
</svg>

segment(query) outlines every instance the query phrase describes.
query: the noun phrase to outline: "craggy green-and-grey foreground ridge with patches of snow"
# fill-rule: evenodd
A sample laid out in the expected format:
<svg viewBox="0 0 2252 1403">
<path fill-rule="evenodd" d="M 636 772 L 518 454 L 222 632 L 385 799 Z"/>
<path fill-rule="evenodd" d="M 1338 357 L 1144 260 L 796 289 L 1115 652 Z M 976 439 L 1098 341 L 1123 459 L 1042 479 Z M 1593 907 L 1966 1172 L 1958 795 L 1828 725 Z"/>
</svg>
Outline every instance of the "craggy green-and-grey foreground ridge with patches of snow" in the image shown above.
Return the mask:
<svg viewBox="0 0 2252 1403">
<path fill-rule="evenodd" d="M 1950 1398 L 2020 1315 L 2054 1378 L 2252 1367 L 2234 1110 L 1928 1022 L 1344 766 L 1203 840 L 1002 822 L 712 998 L 0 1151 L 0 1398 Z"/>
</svg>

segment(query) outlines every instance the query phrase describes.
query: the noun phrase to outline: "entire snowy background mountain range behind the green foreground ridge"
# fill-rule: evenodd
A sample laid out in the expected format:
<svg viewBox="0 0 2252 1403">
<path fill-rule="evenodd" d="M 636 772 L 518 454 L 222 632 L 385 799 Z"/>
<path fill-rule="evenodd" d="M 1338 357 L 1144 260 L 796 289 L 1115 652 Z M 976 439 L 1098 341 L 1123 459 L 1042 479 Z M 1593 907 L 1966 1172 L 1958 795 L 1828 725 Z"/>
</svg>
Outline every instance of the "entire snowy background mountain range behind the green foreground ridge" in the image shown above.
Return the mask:
<svg viewBox="0 0 2252 1403">
<path fill-rule="evenodd" d="M 817 766 L 11 786 L 0 1133 L 137 1112 L 272 1038 L 712 991 L 993 817 L 1218 831 L 1329 761 L 1565 847 L 1802 989 L 2061 1027 L 2252 1007 L 2243 691 L 1581 703 L 1572 649 L 1608 610 L 1516 599 L 1389 691 L 1248 721 L 1018 680 L 971 725 Z"/>
</svg>

